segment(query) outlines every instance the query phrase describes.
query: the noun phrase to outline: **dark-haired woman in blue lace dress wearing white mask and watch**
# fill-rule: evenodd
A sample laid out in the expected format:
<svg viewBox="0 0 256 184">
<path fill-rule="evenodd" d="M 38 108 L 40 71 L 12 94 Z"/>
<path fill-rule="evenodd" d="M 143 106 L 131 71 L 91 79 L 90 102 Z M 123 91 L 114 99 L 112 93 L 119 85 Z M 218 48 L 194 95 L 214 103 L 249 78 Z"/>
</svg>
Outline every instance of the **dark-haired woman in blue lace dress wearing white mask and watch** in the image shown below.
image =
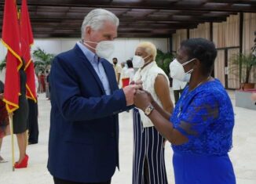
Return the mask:
<svg viewBox="0 0 256 184">
<path fill-rule="evenodd" d="M 228 152 L 234 113 L 225 88 L 211 78 L 217 50 L 203 38 L 181 42 L 171 77 L 188 81 L 174 113 L 168 114 L 148 92 L 137 91 L 135 106 L 172 144 L 176 184 L 235 184 Z M 173 74 L 172 74 L 173 73 Z"/>
</svg>

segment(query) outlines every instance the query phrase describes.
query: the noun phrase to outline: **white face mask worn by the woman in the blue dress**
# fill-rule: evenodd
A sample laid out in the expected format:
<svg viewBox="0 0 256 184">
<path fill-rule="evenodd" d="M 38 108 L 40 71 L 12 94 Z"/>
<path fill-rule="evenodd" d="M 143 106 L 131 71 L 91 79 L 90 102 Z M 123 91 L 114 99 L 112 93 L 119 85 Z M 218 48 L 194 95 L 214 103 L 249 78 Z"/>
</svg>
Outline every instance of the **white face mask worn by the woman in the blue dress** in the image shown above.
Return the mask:
<svg viewBox="0 0 256 184">
<path fill-rule="evenodd" d="M 192 59 L 192 60 L 195 60 Z M 187 62 L 181 64 L 177 61 L 177 59 L 174 59 L 173 62 L 170 63 L 170 77 L 175 78 L 179 81 L 190 81 L 191 73 L 193 69 L 189 70 L 188 72 L 185 72 L 184 67 L 186 64 L 192 62 L 192 60 L 188 60 Z"/>
</svg>

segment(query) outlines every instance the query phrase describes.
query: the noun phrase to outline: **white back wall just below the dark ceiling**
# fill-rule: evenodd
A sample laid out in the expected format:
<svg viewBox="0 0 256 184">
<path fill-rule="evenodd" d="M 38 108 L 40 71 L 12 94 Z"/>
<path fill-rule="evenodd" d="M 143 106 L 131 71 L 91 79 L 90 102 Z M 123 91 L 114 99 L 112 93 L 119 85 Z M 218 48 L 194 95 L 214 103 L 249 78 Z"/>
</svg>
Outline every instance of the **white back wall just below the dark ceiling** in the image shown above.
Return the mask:
<svg viewBox="0 0 256 184">
<path fill-rule="evenodd" d="M 68 51 L 72 49 L 79 38 L 47 38 L 47 39 L 35 39 L 34 45 L 32 45 L 31 52 L 37 49 L 45 50 L 47 53 L 59 54 L 60 52 Z M 119 63 L 126 61 L 133 57 L 136 46 L 141 41 L 151 41 L 155 44 L 157 49 L 161 49 L 163 52 L 168 50 L 167 38 L 117 38 L 115 39 L 115 52 L 109 58 L 112 61 L 113 57 L 118 58 Z M 0 61 L 5 58 L 6 49 L 2 42 L 0 43 Z M 5 71 L 0 73 L 0 80 L 4 81 Z"/>
</svg>

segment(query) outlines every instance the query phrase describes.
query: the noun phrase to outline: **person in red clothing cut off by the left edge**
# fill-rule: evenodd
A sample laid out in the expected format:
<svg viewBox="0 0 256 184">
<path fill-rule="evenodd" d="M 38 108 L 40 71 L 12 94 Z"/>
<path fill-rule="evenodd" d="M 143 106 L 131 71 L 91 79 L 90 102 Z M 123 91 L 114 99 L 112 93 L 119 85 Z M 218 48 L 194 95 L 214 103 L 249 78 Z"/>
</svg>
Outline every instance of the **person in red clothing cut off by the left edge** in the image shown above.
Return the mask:
<svg viewBox="0 0 256 184">
<path fill-rule="evenodd" d="M 2 139 L 5 135 L 9 135 L 9 115 L 5 107 L 5 102 L 2 101 L 4 92 L 4 83 L 0 81 L 0 153 L 2 147 Z M 1 157 L 0 163 L 5 163 L 5 159 Z"/>
</svg>

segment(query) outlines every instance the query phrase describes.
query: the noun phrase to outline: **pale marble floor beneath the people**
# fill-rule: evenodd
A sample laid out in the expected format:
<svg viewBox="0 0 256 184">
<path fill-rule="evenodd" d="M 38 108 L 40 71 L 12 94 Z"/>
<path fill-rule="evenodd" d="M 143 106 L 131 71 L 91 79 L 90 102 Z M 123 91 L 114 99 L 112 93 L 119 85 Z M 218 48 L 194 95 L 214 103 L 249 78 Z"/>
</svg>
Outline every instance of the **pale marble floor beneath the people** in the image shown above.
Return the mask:
<svg viewBox="0 0 256 184">
<path fill-rule="evenodd" d="M 234 104 L 234 92 L 229 95 Z M 49 134 L 49 100 L 45 94 L 39 94 L 39 143 L 29 145 L 27 153 L 30 157 L 29 166 L 26 169 L 12 171 L 11 166 L 11 138 L 3 140 L 1 155 L 8 163 L 0 164 L 0 184 L 51 184 L 53 179 L 46 169 L 47 144 Z M 236 113 L 236 125 L 233 132 L 233 148 L 229 153 L 238 184 L 256 183 L 256 111 L 234 106 Z M 122 113 L 120 121 L 120 171 L 115 171 L 112 178 L 113 184 L 131 184 L 132 182 L 132 153 L 133 153 L 133 124 L 132 114 Z M 18 157 L 15 139 L 15 157 Z M 168 183 L 174 183 L 174 171 L 172 168 L 172 150 L 170 144 L 166 144 L 166 170 Z"/>
</svg>

